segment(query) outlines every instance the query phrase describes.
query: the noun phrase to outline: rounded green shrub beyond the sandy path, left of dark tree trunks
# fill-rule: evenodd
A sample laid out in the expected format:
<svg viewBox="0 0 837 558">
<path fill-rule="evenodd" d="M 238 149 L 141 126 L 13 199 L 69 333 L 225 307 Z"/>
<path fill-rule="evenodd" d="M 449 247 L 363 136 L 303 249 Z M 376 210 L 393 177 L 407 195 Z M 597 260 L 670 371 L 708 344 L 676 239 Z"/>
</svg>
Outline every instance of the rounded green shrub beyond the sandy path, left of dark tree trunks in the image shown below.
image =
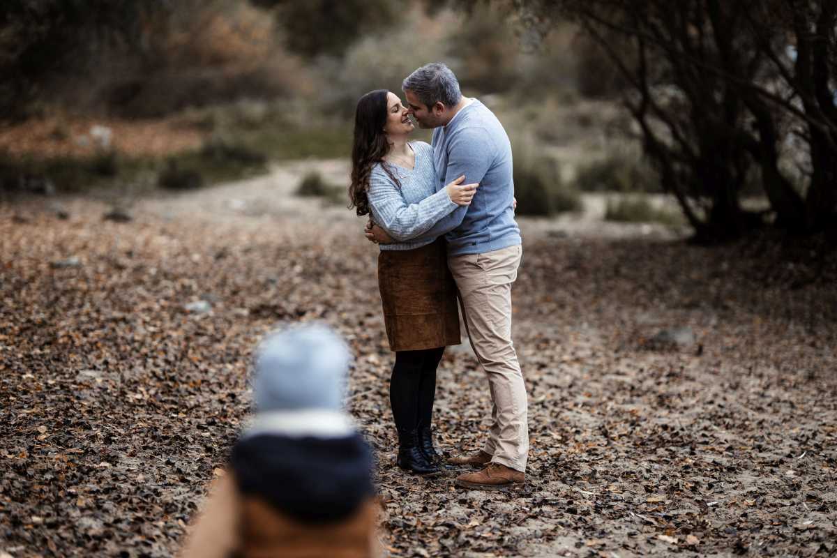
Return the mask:
<svg viewBox="0 0 837 558">
<path fill-rule="evenodd" d="M 661 192 L 660 179 L 639 155 L 611 154 L 578 169 L 581 192 Z"/>
</svg>

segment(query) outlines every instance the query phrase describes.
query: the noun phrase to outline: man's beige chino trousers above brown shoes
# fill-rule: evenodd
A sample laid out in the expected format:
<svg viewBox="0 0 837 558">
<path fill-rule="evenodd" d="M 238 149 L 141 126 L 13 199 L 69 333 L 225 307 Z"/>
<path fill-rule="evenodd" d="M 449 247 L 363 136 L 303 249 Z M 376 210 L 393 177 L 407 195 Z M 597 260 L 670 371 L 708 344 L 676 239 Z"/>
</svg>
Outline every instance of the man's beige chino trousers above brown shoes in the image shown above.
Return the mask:
<svg viewBox="0 0 837 558">
<path fill-rule="evenodd" d="M 511 284 L 522 253 L 517 245 L 448 256 L 470 343 L 488 376 L 491 428 L 483 451 L 518 471 L 526 471 L 529 454 L 526 385 L 511 342 Z"/>
</svg>

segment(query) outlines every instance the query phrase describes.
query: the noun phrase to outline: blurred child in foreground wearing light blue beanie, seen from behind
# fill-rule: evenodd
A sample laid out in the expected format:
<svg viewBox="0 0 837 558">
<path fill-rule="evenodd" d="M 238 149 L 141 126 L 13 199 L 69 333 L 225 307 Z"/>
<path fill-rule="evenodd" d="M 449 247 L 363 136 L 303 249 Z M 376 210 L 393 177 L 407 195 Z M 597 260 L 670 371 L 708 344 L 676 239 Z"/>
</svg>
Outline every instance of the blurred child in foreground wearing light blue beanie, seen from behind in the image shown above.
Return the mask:
<svg viewBox="0 0 837 558">
<path fill-rule="evenodd" d="M 323 325 L 270 335 L 255 417 L 210 491 L 183 558 L 378 555 L 372 454 L 342 407 L 350 361 Z"/>
</svg>

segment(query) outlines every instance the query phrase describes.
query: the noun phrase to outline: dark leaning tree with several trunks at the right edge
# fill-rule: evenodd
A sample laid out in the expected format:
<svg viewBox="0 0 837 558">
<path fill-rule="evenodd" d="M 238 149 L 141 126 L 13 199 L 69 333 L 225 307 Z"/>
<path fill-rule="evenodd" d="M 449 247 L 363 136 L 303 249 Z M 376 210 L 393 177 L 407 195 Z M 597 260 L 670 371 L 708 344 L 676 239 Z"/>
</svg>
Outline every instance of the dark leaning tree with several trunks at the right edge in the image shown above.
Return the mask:
<svg viewBox="0 0 837 558">
<path fill-rule="evenodd" d="M 530 32 L 568 19 L 607 54 L 644 153 L 697 239 L 765 223 L 834 228 L 837 0 L 512 3 Z M 768 211 L 742 207 L 754 187 Z"/>
</svg>

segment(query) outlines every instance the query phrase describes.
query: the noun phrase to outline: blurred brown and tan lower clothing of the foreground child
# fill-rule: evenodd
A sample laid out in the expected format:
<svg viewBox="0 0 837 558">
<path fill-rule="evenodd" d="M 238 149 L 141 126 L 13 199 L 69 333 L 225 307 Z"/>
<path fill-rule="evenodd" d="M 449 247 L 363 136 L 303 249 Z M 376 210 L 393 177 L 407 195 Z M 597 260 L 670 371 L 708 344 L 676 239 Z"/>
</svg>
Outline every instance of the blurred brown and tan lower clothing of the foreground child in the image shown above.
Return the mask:
<svg viewBox="0 0 837 558">
<path fill-rule="evenodd" d="M 368 499 L 347 520 L 306 525 L 260 499 L 242 497 L 233 474 L 225 474 L 211 489 L 180 556 L 372 558 L 381 554 L 375 510 L 376 500 Z"/>
</svg>

